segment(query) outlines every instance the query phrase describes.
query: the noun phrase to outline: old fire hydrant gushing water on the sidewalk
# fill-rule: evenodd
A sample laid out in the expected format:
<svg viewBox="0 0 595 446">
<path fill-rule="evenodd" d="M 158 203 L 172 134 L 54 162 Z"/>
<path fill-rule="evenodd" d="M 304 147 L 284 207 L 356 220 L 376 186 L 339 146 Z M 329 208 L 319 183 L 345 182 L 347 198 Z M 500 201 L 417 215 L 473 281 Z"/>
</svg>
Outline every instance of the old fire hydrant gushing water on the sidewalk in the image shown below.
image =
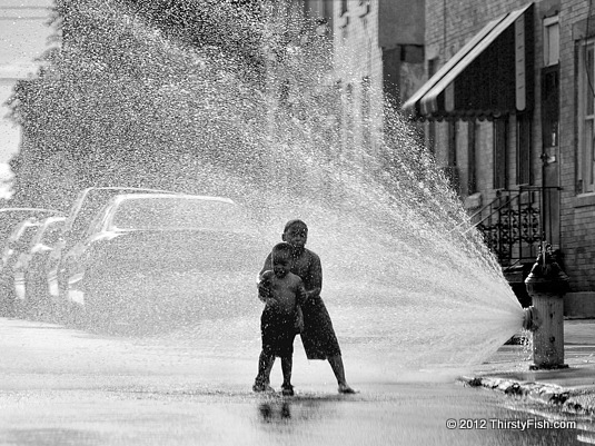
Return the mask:
<svg viewBox="0 0 595 446">
<path fill-rule="evenodd" d="M 525 279 L 533 306 L 526 309 L 524 328 L 533 331 L 533 363 L 529 369 L 566 368 L 564 364 L 564 295 L 568 276 L 562 270 L 552 247 L 541 249 Z"/>
</svg>

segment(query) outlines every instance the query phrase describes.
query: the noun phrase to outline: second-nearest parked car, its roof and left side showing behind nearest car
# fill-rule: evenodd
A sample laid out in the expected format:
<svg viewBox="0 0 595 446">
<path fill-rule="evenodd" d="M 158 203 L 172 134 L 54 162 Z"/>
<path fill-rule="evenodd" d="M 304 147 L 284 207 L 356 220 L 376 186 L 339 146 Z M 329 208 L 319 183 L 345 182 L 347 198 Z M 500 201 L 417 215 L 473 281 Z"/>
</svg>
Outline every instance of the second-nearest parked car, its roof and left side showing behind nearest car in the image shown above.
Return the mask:
<svg viewBox="0 0 595 446">
<path fill-rule="evenodd" d="M 62 234 L 48 256 L 46 280 L 50 297 L 54 304 L 63 301 L 67 289 L 62 254 L 79 242 L 90 220 L 97 211 L 118 194 L 176 194 L 167 190 L 155 190 L 131 187 L 89 187 L 79 192 L 70 207 Z"/>
</svg>

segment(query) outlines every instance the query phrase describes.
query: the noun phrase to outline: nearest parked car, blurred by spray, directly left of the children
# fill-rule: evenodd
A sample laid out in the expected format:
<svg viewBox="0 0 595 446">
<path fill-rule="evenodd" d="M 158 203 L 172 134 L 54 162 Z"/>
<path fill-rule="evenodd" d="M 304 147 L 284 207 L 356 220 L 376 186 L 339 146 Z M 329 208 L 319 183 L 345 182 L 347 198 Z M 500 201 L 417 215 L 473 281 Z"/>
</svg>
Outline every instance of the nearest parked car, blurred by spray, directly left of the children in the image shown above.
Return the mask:
<svg viewBox="0 0 595 446">
<path fill-rule="evenodd" d="M 177 324 L 212 305 L 229 314 L 244 299 L 254 306 L 260 244 L 230 199 L 119 195 L 65 254 L 68 304 L 103 327 Z"/>
</svg>

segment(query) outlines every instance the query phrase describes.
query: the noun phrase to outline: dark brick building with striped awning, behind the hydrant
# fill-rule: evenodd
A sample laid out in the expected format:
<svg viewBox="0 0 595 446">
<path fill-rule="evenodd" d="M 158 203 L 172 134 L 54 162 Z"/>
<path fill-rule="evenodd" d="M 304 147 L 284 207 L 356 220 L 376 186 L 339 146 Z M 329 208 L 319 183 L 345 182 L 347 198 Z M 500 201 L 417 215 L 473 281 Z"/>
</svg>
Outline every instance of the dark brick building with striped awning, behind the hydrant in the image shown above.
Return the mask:
<svg viewBox="0 0 595 446">
<path fill-rule="evenodd" d="M 404 105 L 513 286 L 545 241 L 595 316 L 593 0 L 426 0 L 427 82 Z"/>
</svg>

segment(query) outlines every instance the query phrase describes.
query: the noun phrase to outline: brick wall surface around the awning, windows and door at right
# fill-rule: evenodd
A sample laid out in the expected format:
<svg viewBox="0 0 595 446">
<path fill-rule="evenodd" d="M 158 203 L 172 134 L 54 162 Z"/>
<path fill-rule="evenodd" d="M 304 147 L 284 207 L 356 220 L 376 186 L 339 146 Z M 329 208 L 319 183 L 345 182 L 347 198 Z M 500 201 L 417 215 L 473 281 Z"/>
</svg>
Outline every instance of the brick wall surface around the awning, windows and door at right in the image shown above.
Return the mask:
<svg viewBox="0 0 595 446">
<path fill-rule="evenodd" d="M 426 8 L 426 56 L 427 59 L 436 58 L 438 67 L 445 63 L 463 44 L 465 44 L 489 20 L 505 12 L 522 8 L 527 4 L 525 0 L 492 0 L 477 2 L 474 0 L 427 0 Z M 447 9 L 445 10 L 445 6 Z M 588 0 L 543 0 L 535 1 L 534 17 L 534 42 L 535 42 L 535 105 L 533 128 L 533 177 L 535 185 L 542 185 L 541 155 L 544 151 L 541 127 L 541 73 L 543 61 L 543 18 L 551 16 L 554 9 L 559 10 L 559 156 L 557 168 L 559 175 L 561 192 L 561 248 L 565 255 L 565 264 L 571 276 L 574 291 L 595 290 L 595 196 L 577 195 L 577 105 L 576 105 L 576 70 L 577 52 L 576 36 L 573 37 L 573 28 L 576 23 L 585 20 L 589 10 Z M 595 13 L 593 8 L 592 13 Z M 593 17 L 595 29 L 595 16 Z M 447 132 L 446 123 L 437 125 L 436 150 L 437 159 L 446 161 Z M 488 121 L 479 123 L 478 145 L 482 151 L 482 163 L 478 166 L 478 187 L 484 195 L 484 204 L 488 202 L 495 191 L 492 189 L 493 172 L 493 129 Z M 512 161 L 508 176 L 510 186 L 515 186 L 515 132 L 514 119 L 510 120 L 510 143 L 508 157 Z M 466 127 L 457 139 L 459 150 L 466 150 Z M 464 166 L 464 153 L 457 158 Z M 462 172 L 462 180 L 466 174 Z M 465 192 L 465 190 L 463 190 Z"/>
</svg>

